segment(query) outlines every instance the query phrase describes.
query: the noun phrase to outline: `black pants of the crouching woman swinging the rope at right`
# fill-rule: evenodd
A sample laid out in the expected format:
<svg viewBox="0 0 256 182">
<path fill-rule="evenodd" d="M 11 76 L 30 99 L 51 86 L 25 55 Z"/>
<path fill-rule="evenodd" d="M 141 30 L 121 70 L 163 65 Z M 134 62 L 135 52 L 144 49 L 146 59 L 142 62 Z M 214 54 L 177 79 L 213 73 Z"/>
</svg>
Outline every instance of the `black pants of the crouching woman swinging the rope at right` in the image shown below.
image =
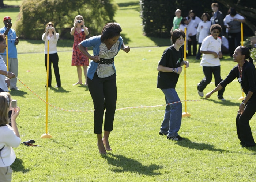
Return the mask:
<svg viewBox="0 0 256 182">
<path fill-rule="evenodd" d="M 254 139 L 252 137 L 252 131 L 249 124 L 249 120 L 256 112 L 256 100 L 249 100 L 246 103 L 244 112 L 242 115 L 237 114 L 236 125 L 237 125 L 237 135 L 241 141 L 243 147 L 255 146 Z"/>
</svg>

